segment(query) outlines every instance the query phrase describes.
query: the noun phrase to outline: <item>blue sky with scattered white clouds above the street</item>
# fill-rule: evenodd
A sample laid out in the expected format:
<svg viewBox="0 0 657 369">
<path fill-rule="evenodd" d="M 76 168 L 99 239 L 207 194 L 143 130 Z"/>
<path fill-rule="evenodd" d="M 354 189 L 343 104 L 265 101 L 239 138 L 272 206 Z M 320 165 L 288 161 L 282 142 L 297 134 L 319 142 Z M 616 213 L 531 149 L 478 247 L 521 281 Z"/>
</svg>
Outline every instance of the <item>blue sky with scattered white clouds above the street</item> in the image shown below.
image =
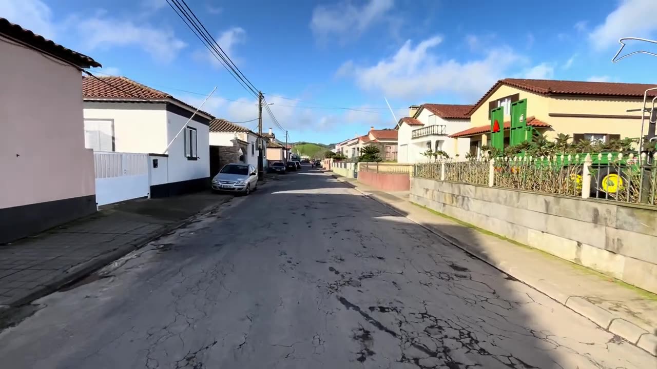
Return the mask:
<svg viewBox="0 0 657 369">
<path fill-rule="evenodd" d="M 504 77 L 655 79 L 652 56 L 610 62 L 618 38 L 657 38 L 654 0 L 526 1 L 507 9 L 483 0 L 187 3 L 273 102 L 292 141 L 332 143 L 394 127 L 384 97 L 399 119 L 411 104 L 474 103 Z M 257 117 L 254 98 L 166 0 L 2 0 L 0 16 L 92 56 L 104 66 L 99 75 L 127 76 L 196 105 L 216 86 L 204 110 L 232 121 Z M 272 126 L 268 118 L 264 125 Z"/>
</svg>

